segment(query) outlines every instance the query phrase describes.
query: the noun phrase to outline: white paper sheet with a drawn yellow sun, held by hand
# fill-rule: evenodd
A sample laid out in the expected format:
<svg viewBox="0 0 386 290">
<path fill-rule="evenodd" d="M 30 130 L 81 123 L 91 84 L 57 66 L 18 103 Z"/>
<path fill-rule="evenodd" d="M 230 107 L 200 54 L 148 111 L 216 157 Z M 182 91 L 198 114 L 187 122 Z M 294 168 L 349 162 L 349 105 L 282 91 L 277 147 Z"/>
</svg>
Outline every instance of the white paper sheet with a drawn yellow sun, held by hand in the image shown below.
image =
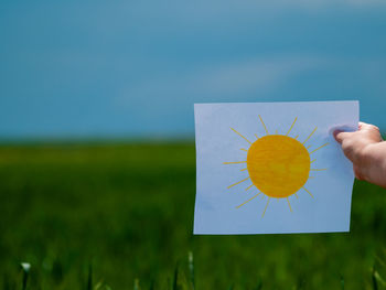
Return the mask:
<svg viewBox="0 0 386 290">
<path fill-rule="evenodd" d="M 196 104 L 194 114 L 194 234 L 350 230 L 354 173 L 332 132 L 357 129 L 358 101 Z"/>
</svg>

